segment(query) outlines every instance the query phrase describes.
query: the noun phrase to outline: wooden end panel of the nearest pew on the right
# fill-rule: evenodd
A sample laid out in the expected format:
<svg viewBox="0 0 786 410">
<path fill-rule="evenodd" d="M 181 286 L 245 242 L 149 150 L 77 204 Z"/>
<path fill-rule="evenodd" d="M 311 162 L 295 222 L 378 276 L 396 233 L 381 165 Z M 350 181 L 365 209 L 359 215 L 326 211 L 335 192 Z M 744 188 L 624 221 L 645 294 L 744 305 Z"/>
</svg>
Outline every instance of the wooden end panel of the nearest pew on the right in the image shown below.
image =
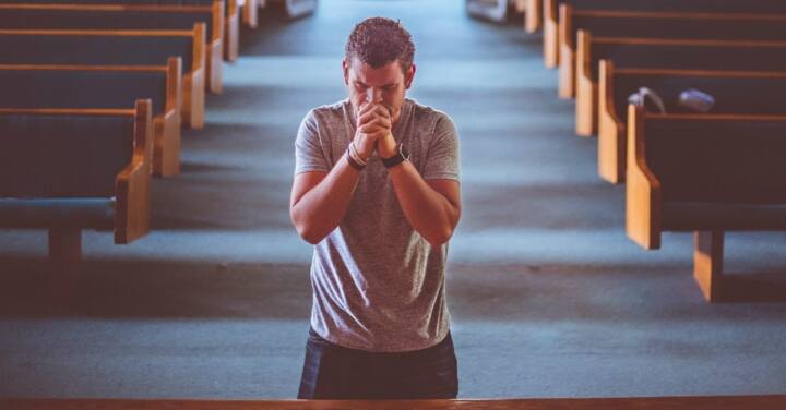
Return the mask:
<svg viewBox="0 0 786 410">
<path fill-rule="evenodd" d="M 626 232 L 644 249 L 660 248 L 660 181 L 646 164 L 644 111 L 628 106 L 628 170 L 626 177 Z"/>
</svg>

